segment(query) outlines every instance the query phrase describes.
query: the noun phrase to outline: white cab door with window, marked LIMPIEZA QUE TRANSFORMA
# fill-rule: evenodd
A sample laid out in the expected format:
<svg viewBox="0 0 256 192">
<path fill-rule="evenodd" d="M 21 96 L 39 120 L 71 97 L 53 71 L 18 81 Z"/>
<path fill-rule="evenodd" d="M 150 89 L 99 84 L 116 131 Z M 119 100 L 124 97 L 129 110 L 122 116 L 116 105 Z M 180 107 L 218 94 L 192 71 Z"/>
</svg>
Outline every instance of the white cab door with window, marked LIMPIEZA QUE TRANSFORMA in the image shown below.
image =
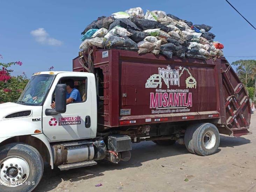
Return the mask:
<svg viewBox="0 0 256 192">
<path fill-rule="evenodd" d="M 57 75 L 54 84 L 43 105 L 43 133 L 51 141 L 76 140 L 91 137 L 92 128 L 92 95 L 91 77 L 86 73 L 75 73 L 75 76 Z M 72 73 L 71 73 L 72 74 Z M 49 109 L 54 101 L 55 86 L 66 79 L 74 81 L 74 87 L 80 92 L 81 102 L 67 104 L 66 112 L 57 115 L 45 115 L 45 109 Z"/>
</svg>

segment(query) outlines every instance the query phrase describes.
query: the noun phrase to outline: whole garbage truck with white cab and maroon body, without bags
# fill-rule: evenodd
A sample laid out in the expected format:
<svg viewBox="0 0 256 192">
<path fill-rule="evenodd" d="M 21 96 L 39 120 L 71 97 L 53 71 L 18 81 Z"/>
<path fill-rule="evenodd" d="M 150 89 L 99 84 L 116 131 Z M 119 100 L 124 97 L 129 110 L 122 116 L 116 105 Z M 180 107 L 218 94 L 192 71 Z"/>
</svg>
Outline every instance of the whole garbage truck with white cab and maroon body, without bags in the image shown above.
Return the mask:
<svg viewBox="0 0 256 192">
<path fill-rule="evenodd" d="M 66 104 L 67 79 L 80 102 Z M 220 134 L 251 134 L 250 117 L 246 89 L 225 57 L 94 47 L 73 59 L 72 72 L 36 72 L 17 102 L 0 104 L 0 191 L 32 191 L 47 164 L 129 161 L 141 141 L 211 155 Z"/>
</svg>

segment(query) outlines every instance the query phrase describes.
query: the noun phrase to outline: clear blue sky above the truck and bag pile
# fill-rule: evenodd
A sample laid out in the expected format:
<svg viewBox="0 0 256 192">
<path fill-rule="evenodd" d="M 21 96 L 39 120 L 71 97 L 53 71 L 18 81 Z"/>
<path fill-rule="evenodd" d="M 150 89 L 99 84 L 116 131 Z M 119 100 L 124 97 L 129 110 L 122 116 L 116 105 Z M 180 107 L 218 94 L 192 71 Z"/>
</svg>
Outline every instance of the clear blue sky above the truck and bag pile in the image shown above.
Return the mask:
<svg viewBox="0 0 256 192">
<path fill-rule="evenodd" d="M 256 26 L 255 0 L 229 0 Z M 224 44 L 226 56 L 255 56 L 256 30 L 225 0 L 0 0 L 0 62 L 22 61 L 13 75 L 25 72 L 72 71 L 72 59 L 78 56 L 84 28 L 99 16 L 129 8 L 163 10 L 194 24 L 213 26 L 215 41 Z M 239 59 L 227 57 L 229 63 Z"/>
</svg>

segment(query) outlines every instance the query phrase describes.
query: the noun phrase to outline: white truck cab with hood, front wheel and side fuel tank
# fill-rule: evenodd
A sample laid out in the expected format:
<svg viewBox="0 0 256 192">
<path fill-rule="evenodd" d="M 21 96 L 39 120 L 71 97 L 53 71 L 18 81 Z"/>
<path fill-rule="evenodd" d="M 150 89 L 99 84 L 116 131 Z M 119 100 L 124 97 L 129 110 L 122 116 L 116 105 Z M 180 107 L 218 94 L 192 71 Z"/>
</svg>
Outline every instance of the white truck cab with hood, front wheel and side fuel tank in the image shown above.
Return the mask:
<svg viewBox="0 0 256 192">
<path fill-rule="evenodd" d="M 81 102 L 66 105 L 66 85 L 62 83 L 65 79 L 74 81 Z M 56 107 L 52 109 L 54 101 Z M 33 74 L 16 103 L 0 104 L 0 127 L 3 130 L 0 191 L 33 190 L 42 177 L 43 162 L 52 168 L 54 164 L 69 165 L 65 170 L 76 162 L 95 164 L 92 161 L 96 152 L 92 138 L 97 133 L 94 74 L 64 71 Z M 97 144 L 105 148 L 106 154 L 104 142 Z"/>
</svg>

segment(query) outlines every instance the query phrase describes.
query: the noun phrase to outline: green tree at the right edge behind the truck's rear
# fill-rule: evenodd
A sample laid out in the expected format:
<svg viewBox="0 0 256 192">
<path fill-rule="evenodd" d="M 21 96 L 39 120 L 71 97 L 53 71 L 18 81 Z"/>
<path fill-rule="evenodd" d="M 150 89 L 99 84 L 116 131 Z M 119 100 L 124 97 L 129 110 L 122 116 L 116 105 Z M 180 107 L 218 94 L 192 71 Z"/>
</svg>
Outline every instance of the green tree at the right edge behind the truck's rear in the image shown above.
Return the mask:
<svg viewBox="0 0 256 192">
<path fill-rule="evenodd" d="M 256 65 L 256 60 L 239 60 L 232 63 L 232 65 L 237 66 L 236 73 L 239 76 L 242 83 L 248 86 L 249 77 L 252 75 L 252 70 Z M 253 83 L 252 81 L 250 83 Z"/>
</svg>

